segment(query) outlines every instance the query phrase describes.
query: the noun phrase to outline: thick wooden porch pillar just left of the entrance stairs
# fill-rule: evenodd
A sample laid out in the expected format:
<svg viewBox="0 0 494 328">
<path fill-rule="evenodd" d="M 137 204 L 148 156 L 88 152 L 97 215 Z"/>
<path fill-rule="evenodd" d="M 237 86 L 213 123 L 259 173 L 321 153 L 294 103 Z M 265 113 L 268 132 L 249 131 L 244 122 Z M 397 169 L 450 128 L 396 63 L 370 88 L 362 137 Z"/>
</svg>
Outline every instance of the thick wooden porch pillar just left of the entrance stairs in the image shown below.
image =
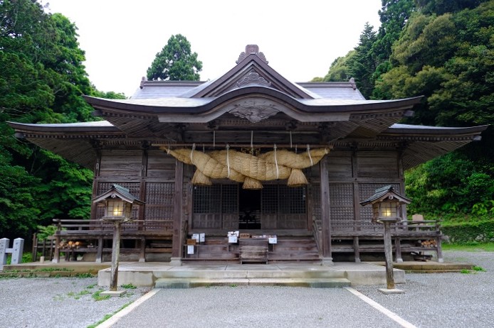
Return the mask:
<svg viewBox="0 0 494 328">
<path fill-rule="evenodd" d="M 175 189 L 173 201 L 172 263 L 182 263 L 182 197 L 184 186 L 184 163 L 175 160 Z"/>
</svg>

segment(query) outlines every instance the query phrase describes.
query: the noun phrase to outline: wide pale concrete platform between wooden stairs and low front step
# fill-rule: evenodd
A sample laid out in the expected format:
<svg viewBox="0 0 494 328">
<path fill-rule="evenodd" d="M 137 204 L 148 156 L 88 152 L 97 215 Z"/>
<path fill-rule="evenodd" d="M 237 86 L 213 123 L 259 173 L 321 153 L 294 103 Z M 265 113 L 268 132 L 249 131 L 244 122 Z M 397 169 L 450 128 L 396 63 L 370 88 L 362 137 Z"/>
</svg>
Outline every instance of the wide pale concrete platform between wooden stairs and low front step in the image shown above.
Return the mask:
<svg viewBox="0 0 494 328">
<path fill-rule="evenodd" d="M 395 283 L 404 283 L 403 270 L 394 270 Z M 127 263 L 119 267 L 118 283 L 136 286 L 154 286 L 159 280 L 168 279 L 169 286 L 183 284 L 184 279 L 196 285 L 324 285 L 327 279 L 350 280 L 350 285 L 382 285 L 386 283 L 386 270 L 369 263 L 335 263 L 320 266 L 315 263 L 276 264 L 186 264 L 170 266 L 169 263 Z M 291 280 L 290 280 L 291 279 Z M 314 281 L 311 281 L 314 280 Z M 316 282 L 317 280 L 317 282 Z M 100 270 L 98 285 L 110 283 L 110 269 Z M 164 284 L 164 283 L 163 283 Z M 168 287 L 172 288 L 172 287 Z M 178 288 L 178 287 L 177 287 Z M 184 287 L 180 287 L 184 288 Z"/>
</svg>

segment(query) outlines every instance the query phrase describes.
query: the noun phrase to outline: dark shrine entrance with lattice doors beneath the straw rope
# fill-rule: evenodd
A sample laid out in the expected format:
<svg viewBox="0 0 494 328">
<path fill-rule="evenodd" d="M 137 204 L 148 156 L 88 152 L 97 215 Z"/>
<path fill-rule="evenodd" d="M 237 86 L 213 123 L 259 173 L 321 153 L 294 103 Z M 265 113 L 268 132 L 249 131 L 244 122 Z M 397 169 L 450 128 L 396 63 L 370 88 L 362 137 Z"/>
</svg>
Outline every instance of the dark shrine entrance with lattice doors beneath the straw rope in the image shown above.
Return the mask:
<svg viewBox="0 0 494 328">
<path fill-rule="evenodd" d="M 307 229 L 307 188 L 281 182 L 261 190 L 241 184 L 194 186 L 191 229 Z"/>
</svg>

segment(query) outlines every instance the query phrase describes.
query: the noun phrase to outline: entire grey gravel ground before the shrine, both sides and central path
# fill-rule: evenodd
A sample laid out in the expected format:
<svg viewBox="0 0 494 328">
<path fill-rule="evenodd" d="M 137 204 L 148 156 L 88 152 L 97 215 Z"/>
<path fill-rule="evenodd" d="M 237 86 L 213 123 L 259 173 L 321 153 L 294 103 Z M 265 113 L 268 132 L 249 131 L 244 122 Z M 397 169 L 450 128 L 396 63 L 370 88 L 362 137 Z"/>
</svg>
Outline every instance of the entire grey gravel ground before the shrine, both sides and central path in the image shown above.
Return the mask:
<svg viewBox="0 0 494 328">
<path fill-rule="evenodd" d="M 445 251 L 486 272 L 408 273 L 402 295 L 355 289 L 416 327 L 493 327 L 494 253 Z M 0 280 L 0 327 L 88 327 L 149 288 L 95 301 L 96 278 Z M 340 288 L 211 287 L 160 290 L 114 327 L 398 327 Z"/>
</svg>

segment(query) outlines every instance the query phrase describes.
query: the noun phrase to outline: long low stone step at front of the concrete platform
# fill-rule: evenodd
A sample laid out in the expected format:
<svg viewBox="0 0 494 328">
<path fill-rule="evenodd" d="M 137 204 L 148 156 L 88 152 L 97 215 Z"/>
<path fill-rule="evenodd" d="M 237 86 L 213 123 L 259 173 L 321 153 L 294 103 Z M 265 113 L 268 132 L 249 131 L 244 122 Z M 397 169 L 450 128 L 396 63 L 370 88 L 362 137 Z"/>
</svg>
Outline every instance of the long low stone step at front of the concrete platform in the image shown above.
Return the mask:
<svg viewBox="0 0 494 328">
<path fill-rule="evenodd" d="M 341 288 L 350 286 L 346 278 L 159 278 L 154 288 L 196 288 L 240 285 Z"/>
</svg>

